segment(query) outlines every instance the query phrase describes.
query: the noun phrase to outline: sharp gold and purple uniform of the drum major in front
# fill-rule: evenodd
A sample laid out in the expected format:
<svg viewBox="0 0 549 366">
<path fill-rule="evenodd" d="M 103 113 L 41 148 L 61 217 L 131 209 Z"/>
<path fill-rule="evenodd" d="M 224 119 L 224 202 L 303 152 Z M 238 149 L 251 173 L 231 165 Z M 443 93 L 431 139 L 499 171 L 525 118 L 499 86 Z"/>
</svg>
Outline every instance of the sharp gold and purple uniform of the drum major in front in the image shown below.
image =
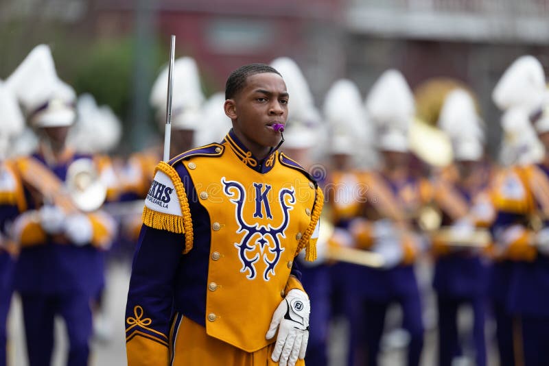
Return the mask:
<svg viewBox="0 0 549 366">
<path fill-rule="evenodd" d="M 302 289 L 294 257 L 316 257 L 322 206 L 299 164 L 279 151 L 257 160 L 232 130 L 159 163 L 128 292 L 128 365 L 274 365 L 265 334 Z"/>
</svg>

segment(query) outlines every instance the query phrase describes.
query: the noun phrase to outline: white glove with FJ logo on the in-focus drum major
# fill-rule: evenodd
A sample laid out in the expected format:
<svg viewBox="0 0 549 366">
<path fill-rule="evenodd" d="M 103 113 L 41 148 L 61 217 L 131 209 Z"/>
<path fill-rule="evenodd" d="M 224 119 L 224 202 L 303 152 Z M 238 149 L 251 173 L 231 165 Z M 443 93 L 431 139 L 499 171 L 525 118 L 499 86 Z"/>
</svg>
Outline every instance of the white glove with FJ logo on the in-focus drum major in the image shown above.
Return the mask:
<svg viewBox="0 0 549 366">
<path fill-rule="evenodd" d="M 309 313 L 311 305 L 307 295 L 293 289 L 288 292 L 277 310 L 274 310 L 266 339 L 272 339 L 277 329 L 279 335 L 271 359 L 280 366 L 294 366 L 297 359 L 305 358 L 309 342 Z"/>
</svg>

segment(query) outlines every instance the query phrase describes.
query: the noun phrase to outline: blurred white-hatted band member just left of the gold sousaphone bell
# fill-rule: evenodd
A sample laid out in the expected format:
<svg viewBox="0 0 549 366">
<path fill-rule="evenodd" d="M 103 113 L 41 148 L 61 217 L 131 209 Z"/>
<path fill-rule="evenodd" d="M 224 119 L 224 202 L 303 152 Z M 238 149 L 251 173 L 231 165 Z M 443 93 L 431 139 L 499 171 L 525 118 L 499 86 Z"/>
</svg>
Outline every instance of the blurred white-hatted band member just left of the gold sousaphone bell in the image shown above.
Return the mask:
<svg viewBox="0 0 549 366">
<path fill-rule="evenodd" d="M 366 110 L 377 123 L 382 167 L 366 174 L 364 218 L 355 219 L 349 229 L 355 245 L 379 254 L 383 265 L 357 268 L 353 276 L 357 301 L 353 303 L 351 361 L 353 365 L 377 365 L 387 309 L 397 303 L 409 336 L 407 365 L 419 365 L 423 321 L 414 261 L 423 240 L 414 221 L 430 199 L 430 191 L 428 184 L 412 178 L 408 170 L 414 99 L 401 73 L 389 70 L 379 77 L 366 99 Z"/>
</svg>

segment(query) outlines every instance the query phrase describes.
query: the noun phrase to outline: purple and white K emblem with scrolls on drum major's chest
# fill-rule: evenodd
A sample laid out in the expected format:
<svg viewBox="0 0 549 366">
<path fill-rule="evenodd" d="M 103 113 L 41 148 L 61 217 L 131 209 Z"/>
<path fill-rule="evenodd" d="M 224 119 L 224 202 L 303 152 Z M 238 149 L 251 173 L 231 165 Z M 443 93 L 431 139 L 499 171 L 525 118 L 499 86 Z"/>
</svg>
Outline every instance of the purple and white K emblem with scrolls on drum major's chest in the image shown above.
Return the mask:
<svg viewBox="0 0 549 366">
<path fill-rule="evenodd" d="M 254 280 L 257 277 L 256 265 L 259 259 L 262 259 L 266 265 L 262 277 L 265 281 L 268 281 L 275 274 L 274 269 L 279 263 L 281 253 L 284 252 L 284 248 L 281 247 L 281 239 L 286 237 L 285 230 L 290 223 L 290 210 L 294 208 L 296 202 L 294 188 L 281 188 L 278 193 L 279 199 L 272 200 L 280 205 L 282 212 L 282 222 L 277 227 L 273 227 L 270 223 L 268 225 L 248 223 L 244 218 L 244 204 L 247 202 L 246 189 L 239 182 L 226 181 L 224 177 L 221 182 L 224 194 L 235 205 L 235 217 L 238 223 L 237 234 L 244 233 L 240 243 L 235 243 L 242 263 L 240 272 L 247 273 L 246 278 L 248 280 Z M 267 200 L 267 193 L 270 191 L 271 186 L 266 184 L 264 191 L 261 191 L 262 186 L 263 184 L 254 183 L 256 197 L 253 199 L 255 203 L 253 217 L 264 217 L 261 209 L 264 208 L 265 216 L 272 219 Z"/>
</svg>

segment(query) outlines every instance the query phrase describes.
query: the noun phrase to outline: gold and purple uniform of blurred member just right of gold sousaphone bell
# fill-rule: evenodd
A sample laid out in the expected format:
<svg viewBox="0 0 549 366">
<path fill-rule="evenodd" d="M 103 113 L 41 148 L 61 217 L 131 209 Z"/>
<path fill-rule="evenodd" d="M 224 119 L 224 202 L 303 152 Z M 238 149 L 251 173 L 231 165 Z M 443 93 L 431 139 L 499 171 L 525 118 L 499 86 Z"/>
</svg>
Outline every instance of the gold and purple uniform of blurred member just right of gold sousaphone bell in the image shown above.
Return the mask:
<svg viewBox="0 0 549 366">
<path fill-rule="evenodd" d="M 449 170 L 454 170 L 450 167 Z M 488 189 L 487 169 L 478 169 L 474 182 L 459 184 L 454 171 L 434 179 L 433 200 L 442 214 L 445 227 L 459 225 L 468 228 L 487 228 L 493 220 L 494 210 Z M 471 306 L 474 315 L 473 340 L 476 365 L 487 363 L 484 339 L 489 267 L 483 249 L 456 248 L 452 243 L 435 239 L 432 243 L 435 257 L 433 287 L 438 304 L 439 365 L 452 365 L 460 354 L 458 337 L 458 309 L 463 304 Z"/>
</svg>

